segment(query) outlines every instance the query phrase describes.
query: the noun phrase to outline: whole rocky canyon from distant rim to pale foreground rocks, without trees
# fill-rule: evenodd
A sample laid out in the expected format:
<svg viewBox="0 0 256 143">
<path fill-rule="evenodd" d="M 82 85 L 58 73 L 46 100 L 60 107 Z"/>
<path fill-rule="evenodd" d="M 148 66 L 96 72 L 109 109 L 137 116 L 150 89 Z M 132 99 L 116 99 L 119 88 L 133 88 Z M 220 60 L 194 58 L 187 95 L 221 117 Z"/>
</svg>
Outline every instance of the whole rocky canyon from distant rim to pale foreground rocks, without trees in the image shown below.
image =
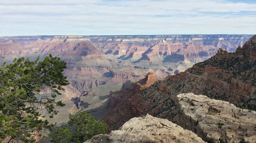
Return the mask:
<svg viewBox="0 0 256 143">
<path fill-rule="evenodd" d="M 256 139 L 256 35 L 0 37 L 1 63 L 50 53 L 70 81 L 50 123 L 89 110 L 111 130 L 86 142 Z"/>
</svg>

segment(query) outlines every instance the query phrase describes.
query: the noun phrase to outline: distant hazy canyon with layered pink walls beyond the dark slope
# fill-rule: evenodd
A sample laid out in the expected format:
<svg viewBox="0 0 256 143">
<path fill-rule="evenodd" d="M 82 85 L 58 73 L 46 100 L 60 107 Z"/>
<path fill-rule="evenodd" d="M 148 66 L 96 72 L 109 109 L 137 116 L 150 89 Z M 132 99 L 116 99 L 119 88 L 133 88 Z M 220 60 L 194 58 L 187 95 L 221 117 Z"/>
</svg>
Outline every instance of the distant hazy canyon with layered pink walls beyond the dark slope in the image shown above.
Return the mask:
<svg viewBox="0 0 256 143">
<path fill-rule="evenodd" d="M 63 111 L 60 109 L 60 114 L 65 114 L 67 110 L 68 113 L 72 113 L 84 109 L 93 111 L 100 119 L 102 111 L 106 110 L 109 92 L 120 90 L 121 83 L 138 81 L 148 72 L 154 73 L 157 79 L 178 74 L 215 55 L 219 48 L 236 51 L 236 48 L 243 45 L 251 36 L 0 37 L 0 58 L 5 57 L 0 63 L 10 62 L 21 56 L 30 60 L 36 59 L 37 56 L 42 59 L 50 53 L 59 56 L 61 60 L 67 62 L 67 69 L 64 72 L 70 81 L 60 99 L 67 107 Z M 235 79 L 232 82 L 241 84 Z M 115 104 L 113 99 L 110 101 Z M 67 118 L 68 116 L 63 122 L 68 120 Z"/>
</svg>

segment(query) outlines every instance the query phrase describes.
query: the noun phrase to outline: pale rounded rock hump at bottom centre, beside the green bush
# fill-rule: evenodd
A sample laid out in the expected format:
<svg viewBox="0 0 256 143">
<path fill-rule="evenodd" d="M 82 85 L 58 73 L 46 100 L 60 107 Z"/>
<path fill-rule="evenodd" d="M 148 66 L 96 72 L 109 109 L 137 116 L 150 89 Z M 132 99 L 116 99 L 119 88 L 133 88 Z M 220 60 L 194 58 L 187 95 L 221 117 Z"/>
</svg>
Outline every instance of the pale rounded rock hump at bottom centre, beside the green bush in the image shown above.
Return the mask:
<svg viewBox="0 0 256 143">
<path fill-rule="evenodd" d="M 146 115 L 127 121 L 120 130 L 97 135 L 92 142 L 204 142 L 195 133 L 166 120 Z"/>
</svg>

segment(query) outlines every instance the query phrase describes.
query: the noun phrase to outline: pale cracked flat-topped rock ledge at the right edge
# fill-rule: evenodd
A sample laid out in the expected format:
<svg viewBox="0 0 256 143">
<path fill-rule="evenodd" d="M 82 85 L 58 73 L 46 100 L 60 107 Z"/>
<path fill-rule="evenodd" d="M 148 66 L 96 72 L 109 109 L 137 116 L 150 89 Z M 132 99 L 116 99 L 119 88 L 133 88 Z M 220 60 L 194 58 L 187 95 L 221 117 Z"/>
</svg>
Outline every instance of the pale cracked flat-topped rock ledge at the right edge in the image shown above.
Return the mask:
<svg viewBox="0 0 256 143">
<path fill-rule="evenodd" d="M 173 122 L 207 142 L 255 142 L 256 112 L 193 93 L 172 96 Z"/>
</svg>

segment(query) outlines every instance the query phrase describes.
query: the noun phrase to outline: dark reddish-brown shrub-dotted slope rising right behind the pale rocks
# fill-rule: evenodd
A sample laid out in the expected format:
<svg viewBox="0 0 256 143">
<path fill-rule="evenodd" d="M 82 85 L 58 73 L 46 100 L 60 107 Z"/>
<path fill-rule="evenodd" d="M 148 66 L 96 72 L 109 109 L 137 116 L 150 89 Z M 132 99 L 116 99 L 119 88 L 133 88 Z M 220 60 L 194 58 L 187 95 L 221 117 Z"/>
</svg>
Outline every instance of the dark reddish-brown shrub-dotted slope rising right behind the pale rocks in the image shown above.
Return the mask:
<svg viewBox="0 0 256 143">
<path fill-rule="evenodd" d="M 147 81 L 151 83 L 148 85 L 141 85 L 140 81 L 124 84 L 120 91 L 111 92 L 111 102 L 104 120 L 111 130 L 146 113 L 172 121 L 172 96 L 181 93 L 202 94 L 241 108 L 256 110 L 255 38 L 250 38 L 236 52 L 219 49 L 210 59 L 177 75 L 159 80 L 143 79 L 152 80 Z"/>
</svg>

